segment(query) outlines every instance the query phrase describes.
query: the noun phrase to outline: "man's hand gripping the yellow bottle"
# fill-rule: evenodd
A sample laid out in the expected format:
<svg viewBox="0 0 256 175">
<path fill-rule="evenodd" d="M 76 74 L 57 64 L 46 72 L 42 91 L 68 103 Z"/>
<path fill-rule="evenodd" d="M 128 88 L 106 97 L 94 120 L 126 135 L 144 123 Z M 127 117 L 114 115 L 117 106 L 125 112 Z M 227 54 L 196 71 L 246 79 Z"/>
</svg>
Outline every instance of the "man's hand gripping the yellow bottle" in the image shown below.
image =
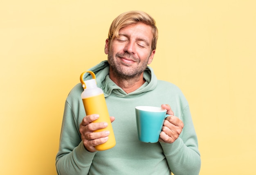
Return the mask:
<svg viewBox="0 0 256 175">
<path fill-rule="evenodd" d="M 106 122 L 92 123 L 92 121 L 99 118 L 98 114 L 92 114 L 85 116 L 80 123 L 81 139 L 83 146 L 90 152 L 97 151 L 94 146 L 107 142 L 109 131 L 94 132 L 98 129 L 103 129 L 108 126 Z M 115 117 L 110 117 L 111 122 L 115 120 Z"/>
</svg>

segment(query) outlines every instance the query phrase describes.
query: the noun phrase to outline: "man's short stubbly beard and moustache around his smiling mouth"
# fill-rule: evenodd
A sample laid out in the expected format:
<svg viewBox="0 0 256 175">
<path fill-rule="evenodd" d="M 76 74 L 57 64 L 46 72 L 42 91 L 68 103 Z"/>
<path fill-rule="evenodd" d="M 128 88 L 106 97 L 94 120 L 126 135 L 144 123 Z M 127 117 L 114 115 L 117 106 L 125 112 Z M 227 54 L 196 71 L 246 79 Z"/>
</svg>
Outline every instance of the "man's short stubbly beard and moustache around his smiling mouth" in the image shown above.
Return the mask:
<svg viewBox="0 0 256 175">
<path fill-rule="evenodd" d="M 126 57 L 135 61 L 133 64 L 124 63 L 123 61 L 119 61 L 120 58 Z M 149 59 L 149 57 L 148 57 Z M 121 79 L 132 79 L 139 77 L 141 73 L 146 70 L 148 65 L 148 59 L 145 61 L 141 61 L 140 59 L 130 55 L 129 53 L 119 54 L 117 53 L 115 56 L 110 52 L 108 53 L 108 63 L 111 66 L 113 73 L 116 77 Z"/>
</svg>

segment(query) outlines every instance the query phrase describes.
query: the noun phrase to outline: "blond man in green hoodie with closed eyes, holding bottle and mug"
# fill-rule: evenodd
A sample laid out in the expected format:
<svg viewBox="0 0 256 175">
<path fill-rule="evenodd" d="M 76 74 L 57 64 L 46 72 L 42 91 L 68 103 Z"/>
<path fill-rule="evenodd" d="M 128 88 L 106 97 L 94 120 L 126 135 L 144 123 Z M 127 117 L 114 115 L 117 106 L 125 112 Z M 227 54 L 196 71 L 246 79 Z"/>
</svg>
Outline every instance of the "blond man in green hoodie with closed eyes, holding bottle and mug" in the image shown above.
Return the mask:
<svg viewBox="0 0 256 175">
<path fill-rule="evenodd" d="M 123 13 L 112 22 L 105 45 L 108 61 L 90 70 L 113 116 L 116 146 L 106 151 L 94 148 L 106 142 L 109 133 L 93 132 L 106 123 L 92 123 L 100 117 L 97 114 L 86 116 L 79 83 L 65 103 L 56 156 L 59 175 L 199 174 L 200 153 L 189 105 L 179 88 L 157 80 L 147 66 L 155 55 L 157 36 L 155 20 L 141 11 Z M 135 107 L 139 105 L 161 106 L 171 115 L 164 121 L 159 142 L 138 140 Z"/>
</svg>

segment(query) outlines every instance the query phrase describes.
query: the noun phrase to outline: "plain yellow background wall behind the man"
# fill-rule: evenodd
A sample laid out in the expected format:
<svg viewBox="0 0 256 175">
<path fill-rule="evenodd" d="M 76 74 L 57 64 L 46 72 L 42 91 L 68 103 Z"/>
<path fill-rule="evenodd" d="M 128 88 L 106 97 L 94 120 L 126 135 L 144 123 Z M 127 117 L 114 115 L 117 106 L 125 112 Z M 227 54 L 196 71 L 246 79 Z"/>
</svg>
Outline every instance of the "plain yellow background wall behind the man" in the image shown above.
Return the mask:
<svg viewBox="0 0 256 175">
<path fill-rule="evenodd" d="M 107 56 L 112 20 L 157 21 L 157 77 L 191 107 L 200 175 L 256 173 L 255 0 L 6 0 L 0 2 L 0 174 L 56 175 L 65 98 Z"/>
</svg>

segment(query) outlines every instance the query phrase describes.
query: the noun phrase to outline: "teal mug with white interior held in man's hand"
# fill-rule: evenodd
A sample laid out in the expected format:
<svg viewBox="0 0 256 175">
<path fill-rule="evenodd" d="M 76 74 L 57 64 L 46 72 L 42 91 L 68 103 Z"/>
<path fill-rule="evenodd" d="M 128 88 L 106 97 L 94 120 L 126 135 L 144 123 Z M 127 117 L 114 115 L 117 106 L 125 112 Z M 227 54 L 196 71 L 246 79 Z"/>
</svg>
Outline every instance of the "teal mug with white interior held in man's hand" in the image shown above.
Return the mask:
<svg viewBox="0 0 256 175">
<path fill-rule="evenodd" d="M 138 137 L 141 142 L 158 142 L 164 119 L 170 115 L 166 109 L 153 106 L 135 107 Z"/>
</svg>

